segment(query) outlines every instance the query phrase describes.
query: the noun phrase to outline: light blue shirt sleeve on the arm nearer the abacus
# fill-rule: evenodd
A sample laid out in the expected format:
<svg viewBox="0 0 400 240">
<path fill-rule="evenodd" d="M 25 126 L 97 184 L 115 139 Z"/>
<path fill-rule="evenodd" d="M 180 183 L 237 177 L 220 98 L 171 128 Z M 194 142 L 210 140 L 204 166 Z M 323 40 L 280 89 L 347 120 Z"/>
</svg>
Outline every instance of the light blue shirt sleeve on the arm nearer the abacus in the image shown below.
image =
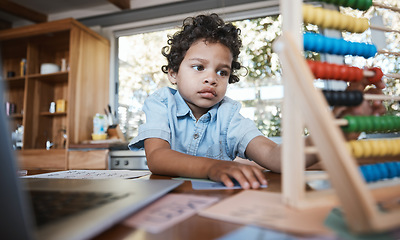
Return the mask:
<svg viewBox="0 0 400 240">
<path fill-rule="evenodd" d="M 245 151 L 247 145 L 253 138 L 263 136 L 251 119 L 243 117 L 239 113 L 240 107 L 232 112 L 231 121 L 228 126 L 227 140 L 228 148 L 235 156 L 247 158 Z"/>
</svg>

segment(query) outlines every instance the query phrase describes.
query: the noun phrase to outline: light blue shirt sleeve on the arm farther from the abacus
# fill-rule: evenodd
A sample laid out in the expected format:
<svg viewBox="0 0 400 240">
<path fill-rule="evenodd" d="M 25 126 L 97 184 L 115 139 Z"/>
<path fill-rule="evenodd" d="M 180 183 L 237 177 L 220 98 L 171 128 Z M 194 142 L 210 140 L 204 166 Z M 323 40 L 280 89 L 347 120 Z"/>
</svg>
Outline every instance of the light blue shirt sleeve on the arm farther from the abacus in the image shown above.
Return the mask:
<svg viewBox="0 0 400 240">
<path fill-rule="evenodd" d="M 143 111 L 146 123 L 139 126 L 138 135 L 129 143 L 129 148 L 143 148 L 147 138 L 160 138 L 170 143 L 167 98 L 157 92 L 150 95 L 144 102 Z"/>
</svg>

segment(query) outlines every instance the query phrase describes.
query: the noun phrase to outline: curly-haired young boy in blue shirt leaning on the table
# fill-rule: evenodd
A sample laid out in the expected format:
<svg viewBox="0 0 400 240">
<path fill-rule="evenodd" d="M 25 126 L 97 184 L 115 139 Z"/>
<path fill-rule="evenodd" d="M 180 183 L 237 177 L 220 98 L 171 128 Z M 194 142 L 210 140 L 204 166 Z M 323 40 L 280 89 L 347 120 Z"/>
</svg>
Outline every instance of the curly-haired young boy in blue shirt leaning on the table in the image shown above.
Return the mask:
<svg viewBox="0 0 400 240">
<path fill-rule="evenodd" d="M 267 183 L 259 167 L 232 161 L 237 156 L 280 172 L 281 148 L 240 115 L 240 103 L 225 96 L 239 78 L 240 30 L 216 14 L 187 18 L 163 48 L 163 72 L 177 90 L 162 88 L 143 106 L 146 123 L 129 147 L 145 148 L 154 174 L 209 178 L 244 189 Z M 307 166 L 317 160 L 306 159 Z"/>
</svg>

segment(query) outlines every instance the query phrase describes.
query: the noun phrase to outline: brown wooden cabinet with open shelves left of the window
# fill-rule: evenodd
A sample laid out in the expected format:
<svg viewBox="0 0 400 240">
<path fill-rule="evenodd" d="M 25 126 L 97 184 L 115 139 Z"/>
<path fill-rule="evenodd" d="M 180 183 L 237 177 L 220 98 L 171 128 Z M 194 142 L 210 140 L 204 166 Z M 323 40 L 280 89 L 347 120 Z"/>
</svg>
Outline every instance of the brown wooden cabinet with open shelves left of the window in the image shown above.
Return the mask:
<svg viewBox="0 0 400 240">
<path fill-rule="evenodd" d="M 91 138 L 93 116 L 109 102 L 109 41 L 74 19 L 0 31 L 11 129 L 23 126 L 25 169 L 68 168 L 68 146 Z M 43 64 L 66 68 L 43 73 Z M 65 100 L 65 111 L 51 102 Z M 52 144 L 46 150 L 47 144 Z"/>
</svg>

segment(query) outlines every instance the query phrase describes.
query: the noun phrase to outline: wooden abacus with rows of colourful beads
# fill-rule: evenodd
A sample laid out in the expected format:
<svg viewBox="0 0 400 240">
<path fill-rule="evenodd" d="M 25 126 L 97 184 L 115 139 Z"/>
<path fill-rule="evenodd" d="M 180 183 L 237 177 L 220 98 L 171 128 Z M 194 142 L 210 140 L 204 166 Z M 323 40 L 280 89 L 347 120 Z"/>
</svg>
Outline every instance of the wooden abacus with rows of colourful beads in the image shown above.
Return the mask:
<svg viewBox="0 0 400 240">
<path fill-rule="evenodd" d="M 366 10 L 373 5 L 371 0 L 326 0 L 325 2 L 333 4 L 340 2 L 345 7 L 359 10 Z M 378 68 L 363 70 L 306 61 L 302 55 L 304 49 L 336 55 L 357 55 L 365 58 L 380 54 L 371 44 L 346 42 L 342 39 L 327 38 L 315 33 L 301 34 L 303 19 L 305 22 L 312 22 L 325 28 L 332 27 L 353 32 L 364 31 L 371 26 L 365 19 L 349 21 L 348 17 L 339 13 L 329 12 L 326 14 L 322 9 L 317 9 L 315 13 L 313 7 L 306 5 L 302 8 L 302 6 L 300 0 L 280 1 L 283 33 L 273 45 L 274 51 L 278 53 L 281 61 L 285 89 L 282 114 L 283 202 L 298 209 L 336 206 L 340 203 L 349 227 L 357 233 L 381 232 L 399 227 L 400 209 L 381 211 L 376 201 L 396 198 L 398 201 L 400 182 L 379 185 L 373 189 L 371 189 L 370 182 L 398 177 L 400 162 L 359 167 L 357 158 L 398 156 L 400 155 L 400 140 L 347 142 L 342 133 L 342 131 L 398 131 L 399 119 L 388 116 L 346 116 L 343 119 L 335 119 L 329 108 L 329 105 L 357 105 L 367 98 L 385 100 L 398 99 L 398 97 L 373 97 L 361 92 L 320 91 L 313 84 L 316 77 L 343 81 L 359 81 L 363 77 L 367 77 L 373 83 L 379 81 L 383 73 Z M 299 9 L 303 9 L 303 11 Z M 389 9 L 398 11 L 396 8 Z M 305 146 L 304 127 L 307 127 L 310 132 L 314 146 Z M 306 192 L 305 182 L 310 179 L 305 175 L 306 154 L 318 154 L 327 173 L 324 177 L 329 177 L 335 193 L 331 190 Z"/>
</svg>

